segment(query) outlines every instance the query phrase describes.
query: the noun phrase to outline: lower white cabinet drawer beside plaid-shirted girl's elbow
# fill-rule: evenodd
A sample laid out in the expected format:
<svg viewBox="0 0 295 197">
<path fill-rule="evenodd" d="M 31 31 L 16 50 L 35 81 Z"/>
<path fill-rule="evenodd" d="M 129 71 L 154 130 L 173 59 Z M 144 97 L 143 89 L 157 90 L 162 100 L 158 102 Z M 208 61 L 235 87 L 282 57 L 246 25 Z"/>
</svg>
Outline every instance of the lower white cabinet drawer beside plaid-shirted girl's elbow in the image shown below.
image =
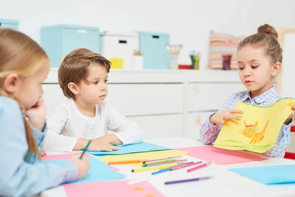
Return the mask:
<svg viewBox="0 0 295 197">
<path fill-rule="evenodd" d="M 188 115 L 188 138 L 200 140 L 201 125 L 213 112 L 189 113 Z"/>
</svg>

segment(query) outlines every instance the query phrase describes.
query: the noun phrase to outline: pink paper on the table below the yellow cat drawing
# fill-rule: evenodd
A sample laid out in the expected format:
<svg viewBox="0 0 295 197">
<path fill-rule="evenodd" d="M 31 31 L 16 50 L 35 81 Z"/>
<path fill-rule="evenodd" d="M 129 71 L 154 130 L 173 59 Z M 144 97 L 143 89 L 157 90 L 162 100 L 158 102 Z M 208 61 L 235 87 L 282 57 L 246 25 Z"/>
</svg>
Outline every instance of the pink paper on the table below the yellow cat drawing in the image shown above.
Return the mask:
<svg viewBox="0 0 295 197">
<path fill-rule="evenodd" d="M 251 155 L 248 153 L 216 148 L 213 147 L 213 145 L 177 148 L 174 150 L 188 151 L 190 153 L 187 155 L 191 157 L 205 160 L 207 162 L 214 161 L 215 164 L 219 165 L 267 160 L 267 158 Z"/>
</svg>

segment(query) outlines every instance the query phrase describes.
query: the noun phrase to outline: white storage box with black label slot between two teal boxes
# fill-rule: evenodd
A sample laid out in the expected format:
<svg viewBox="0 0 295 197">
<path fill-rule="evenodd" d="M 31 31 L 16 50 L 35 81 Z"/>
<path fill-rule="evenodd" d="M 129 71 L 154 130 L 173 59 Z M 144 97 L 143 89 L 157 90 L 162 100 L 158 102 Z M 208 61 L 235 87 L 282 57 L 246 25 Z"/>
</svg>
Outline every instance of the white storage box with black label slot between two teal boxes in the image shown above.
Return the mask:
<svg viewBox="0 0 295 197">
<path fill-rule="evenodd" d="M 134 50 L 139 49 L 138 33 L 103 32 L 101 38 L 101 55 L 108 60 L 123 59 L 123 69 L 131 69 Z"/>
</svg>

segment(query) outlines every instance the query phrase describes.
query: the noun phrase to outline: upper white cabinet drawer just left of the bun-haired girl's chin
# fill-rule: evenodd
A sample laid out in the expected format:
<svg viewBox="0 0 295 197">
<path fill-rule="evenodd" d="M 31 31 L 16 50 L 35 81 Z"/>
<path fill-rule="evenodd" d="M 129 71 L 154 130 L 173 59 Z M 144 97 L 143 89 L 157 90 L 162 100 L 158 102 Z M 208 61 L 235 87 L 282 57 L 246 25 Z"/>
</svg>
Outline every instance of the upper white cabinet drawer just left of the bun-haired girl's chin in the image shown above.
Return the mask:
<svg viewBox="0 0 295 197">
<path fill-rule="evenodd" d="M 218 110 L 231 94 L 243 90 L 242 83 L 191 83 L 189 111 Z"/>
</svg>

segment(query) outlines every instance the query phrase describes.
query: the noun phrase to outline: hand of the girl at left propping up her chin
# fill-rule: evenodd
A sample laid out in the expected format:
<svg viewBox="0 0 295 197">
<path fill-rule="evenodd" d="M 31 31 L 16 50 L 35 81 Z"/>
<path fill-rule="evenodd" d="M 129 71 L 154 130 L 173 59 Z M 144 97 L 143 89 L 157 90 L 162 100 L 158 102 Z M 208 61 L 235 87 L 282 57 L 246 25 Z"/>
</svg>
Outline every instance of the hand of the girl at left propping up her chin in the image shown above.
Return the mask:
<svg viewBox="0 0 295 197">
<path fill-rule="evenodd" d="M 39 131 L 43 130 L 45 124 L 46 107 L 42 97 L 39 98 L 37 103 L 32 108 L 26 111 L 31 125 Z"/>
</svg>

